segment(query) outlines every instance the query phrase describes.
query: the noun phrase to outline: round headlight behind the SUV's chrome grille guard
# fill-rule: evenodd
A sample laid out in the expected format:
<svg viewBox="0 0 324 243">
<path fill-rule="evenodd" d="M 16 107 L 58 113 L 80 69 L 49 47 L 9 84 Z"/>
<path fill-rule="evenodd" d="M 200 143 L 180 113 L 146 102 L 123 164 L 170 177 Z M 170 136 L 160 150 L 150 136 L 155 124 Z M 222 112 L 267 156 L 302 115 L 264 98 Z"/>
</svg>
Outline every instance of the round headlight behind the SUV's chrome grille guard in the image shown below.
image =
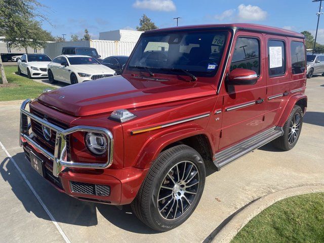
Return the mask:
<svg viewBox="0 0 324 243">
<path fill-rule="evenodd" d="M 87 148 L 96 155 L 104 154 L 107 151 L 107 139 L 100 133 L 86 133 L 85 141 Z"/>
</svg>

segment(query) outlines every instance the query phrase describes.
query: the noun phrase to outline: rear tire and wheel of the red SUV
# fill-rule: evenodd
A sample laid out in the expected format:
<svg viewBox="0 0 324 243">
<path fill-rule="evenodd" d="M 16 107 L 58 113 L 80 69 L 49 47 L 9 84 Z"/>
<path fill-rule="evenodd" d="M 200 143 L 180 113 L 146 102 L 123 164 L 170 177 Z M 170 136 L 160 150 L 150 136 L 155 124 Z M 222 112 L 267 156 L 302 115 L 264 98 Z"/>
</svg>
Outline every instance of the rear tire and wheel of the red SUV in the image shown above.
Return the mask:
<svg viewBox="0 0 324 243">
<path fill-rule="evenodd" d="M 294 124 L 297 123 L 297 117 L 299 117 L 299 125 L 295 126 Z M 272 141 L 272 144 L 282 150 L 288 151 L 295 147 L 300 132 L 303 126 L 303 111 L 300 106 L 295 105 L 292 112 L 290 113 L 284 127 L 284 135 Z M 298 129 L 298 130 L 297 130 Z M 297 131 L 297 132 L 296 132 Z"/>
</svg>

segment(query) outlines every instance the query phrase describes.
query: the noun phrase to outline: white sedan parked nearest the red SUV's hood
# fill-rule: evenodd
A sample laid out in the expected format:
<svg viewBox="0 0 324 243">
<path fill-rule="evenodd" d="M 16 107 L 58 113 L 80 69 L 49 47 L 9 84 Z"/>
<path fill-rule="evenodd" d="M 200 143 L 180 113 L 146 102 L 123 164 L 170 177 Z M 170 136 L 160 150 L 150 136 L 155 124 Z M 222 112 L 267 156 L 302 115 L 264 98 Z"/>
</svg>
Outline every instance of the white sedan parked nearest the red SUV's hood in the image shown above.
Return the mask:
<svg viewBox="0 0 324 243">
<path fill-rule="evenodd" d="M 61 81 L 77 84 L 88 80 L 116 75 L 115 71 L 95 58 L 83 55 L 61 55 L 48 65 L 50 83 Z"/>
</svg>

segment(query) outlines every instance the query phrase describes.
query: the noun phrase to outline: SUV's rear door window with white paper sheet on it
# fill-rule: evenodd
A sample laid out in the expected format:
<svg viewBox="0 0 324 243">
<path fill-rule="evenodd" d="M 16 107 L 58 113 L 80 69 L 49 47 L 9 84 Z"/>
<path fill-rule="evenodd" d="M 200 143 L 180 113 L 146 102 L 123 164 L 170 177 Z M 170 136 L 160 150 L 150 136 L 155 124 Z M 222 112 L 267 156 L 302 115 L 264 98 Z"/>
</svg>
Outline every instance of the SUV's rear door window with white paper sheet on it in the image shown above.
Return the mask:
<svg viewBox="0 0 324 243">
<path fill-rule="evenodd" d="M 286 50 L 282 41 L 268 41 L 269 76 L 284 75 L 286 72 Z"/>
</svg>

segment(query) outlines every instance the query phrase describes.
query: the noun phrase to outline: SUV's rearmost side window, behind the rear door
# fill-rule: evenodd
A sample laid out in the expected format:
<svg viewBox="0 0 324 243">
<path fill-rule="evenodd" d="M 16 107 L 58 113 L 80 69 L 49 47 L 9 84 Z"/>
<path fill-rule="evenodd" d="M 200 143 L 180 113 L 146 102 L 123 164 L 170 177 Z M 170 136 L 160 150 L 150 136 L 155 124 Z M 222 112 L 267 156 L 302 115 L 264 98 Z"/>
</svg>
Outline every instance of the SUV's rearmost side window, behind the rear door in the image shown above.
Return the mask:
<svg viewBox="0 0 324 243">
<path fill-rule="evenodd" d="M 293 74 L 304 73 L 306 68 L 305 46 L 302 42 L 291 42 L 292 72 Z M 321 56 L 324 57 L 324 56 Z M 318 57 L 317 57 L 318 58 Z M 316 60 L 317 60 L 316 58 Z"/>
</svg>

